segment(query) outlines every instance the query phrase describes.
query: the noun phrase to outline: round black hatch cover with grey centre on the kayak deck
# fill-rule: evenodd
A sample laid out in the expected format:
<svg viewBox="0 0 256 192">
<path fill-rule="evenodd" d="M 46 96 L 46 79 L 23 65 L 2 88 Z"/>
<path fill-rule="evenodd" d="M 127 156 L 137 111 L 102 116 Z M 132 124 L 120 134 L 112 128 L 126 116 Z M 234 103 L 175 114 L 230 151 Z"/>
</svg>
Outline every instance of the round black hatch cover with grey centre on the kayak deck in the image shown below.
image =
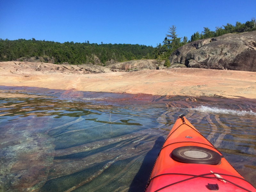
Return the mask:
<svg viewBox="0 0 256 192">
<path fill-rule="evenodd" d="M 211 149 L 197 146 L 183 146 L 175 148 L 170 154 L 173 160 L 191 164 L 220 164 L 221 156 Z"/>
</svg>

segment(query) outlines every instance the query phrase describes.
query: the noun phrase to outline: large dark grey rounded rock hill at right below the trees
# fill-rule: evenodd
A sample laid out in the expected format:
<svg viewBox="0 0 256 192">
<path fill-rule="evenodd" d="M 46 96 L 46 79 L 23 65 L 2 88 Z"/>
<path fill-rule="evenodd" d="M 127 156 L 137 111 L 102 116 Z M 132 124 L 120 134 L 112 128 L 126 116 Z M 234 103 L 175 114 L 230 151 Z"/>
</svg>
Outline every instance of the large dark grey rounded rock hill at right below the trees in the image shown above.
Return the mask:
<svg viewBox="0 0 256 192">
<path fill-rule="evenodd" d="M 173 68 L 229 69 L 256 72 L 256 31 L 197 40 L 188 43 L 170 56 Z"/>
</svg>

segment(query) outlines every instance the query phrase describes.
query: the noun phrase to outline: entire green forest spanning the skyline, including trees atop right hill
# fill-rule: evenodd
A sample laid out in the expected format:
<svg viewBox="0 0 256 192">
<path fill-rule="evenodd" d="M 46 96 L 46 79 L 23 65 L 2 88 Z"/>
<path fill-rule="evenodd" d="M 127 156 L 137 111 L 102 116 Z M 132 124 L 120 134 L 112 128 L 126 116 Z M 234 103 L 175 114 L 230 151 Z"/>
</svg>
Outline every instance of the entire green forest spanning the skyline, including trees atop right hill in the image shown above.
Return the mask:
<svg viewBox="0 0 256 192">
<path fill-rule="evenodd" d="M 8 40 L 0 38 L 0 61 L 25 61 L 29 58 L 36 58 L 40 62 L 51 62 L 55 64 L 98 64 L 108 65 L 109 61 L 124 62 L 139 59 L 165 60 L 165 66 L 169 66 L 167 59 L 170 54 L 184 44 L 199 39 L 211 38 L 224 35 L 226 33 L 242 33 L 256 30 L 255 18 L 245 23 L 236 22 L 236 25 L 227 23 L 221 27 L 216 27 L 215 31 L 204 27 L 204 31 L 198 31 L 188 37 L 178 37 L 176 26 L 169 27 L 164 41 L 154 48 L 152 46 L 139 44 L 90 44 L 36 40 L 35 38 L 26 40 Z M 181 40 L 182 39 L 182 40 Z"/>
</svg>

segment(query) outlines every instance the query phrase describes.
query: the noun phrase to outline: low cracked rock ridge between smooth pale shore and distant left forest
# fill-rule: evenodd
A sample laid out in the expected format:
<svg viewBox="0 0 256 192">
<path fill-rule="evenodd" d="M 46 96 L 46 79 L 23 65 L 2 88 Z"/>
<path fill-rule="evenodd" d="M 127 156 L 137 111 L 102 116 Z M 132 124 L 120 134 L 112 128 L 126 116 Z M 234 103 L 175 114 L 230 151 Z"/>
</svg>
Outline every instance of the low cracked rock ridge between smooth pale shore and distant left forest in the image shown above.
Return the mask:
<svg viewBox="0 0 256 192">
<path fill-rule="evenodd" d="M 113 62 L 112 62 L 113 63 Z M 22 73 L 24 69 L 31 72 L 51 72 L 51 73 L 65 73 L 65 74 L 91 74 L 91 73 L 110 73 L 110 72 L 132 72 L 150 69 L 163 69 L 164 61 L 158 62 L 156 60 L 131 60 L 122 63 L 114 63 L 108 66 L 82 64 L 69 65 L 52 64 L 43 62 L 27 62 L 27 61 L 6 61 L 0 62 L 0 69 L 7 70 L 11 73 Z"/>
</svg>

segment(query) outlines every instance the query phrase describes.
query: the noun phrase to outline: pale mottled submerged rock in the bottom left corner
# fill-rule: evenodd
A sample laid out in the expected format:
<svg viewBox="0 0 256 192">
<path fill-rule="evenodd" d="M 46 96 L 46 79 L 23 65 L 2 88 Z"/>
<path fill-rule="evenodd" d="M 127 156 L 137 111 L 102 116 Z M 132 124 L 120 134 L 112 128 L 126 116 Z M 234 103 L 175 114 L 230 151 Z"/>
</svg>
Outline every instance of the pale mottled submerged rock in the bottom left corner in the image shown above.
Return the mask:
<svg viewBox="0 0 256 192">
<path fill-rule="evenodd" d="M 18 126 L 3 126 L 0 137 L 1 192 L 38 191 L 47 180 L 53 163 L 53 139 L 40 133 L 38 130 L 41 129 L 31 123 L 27 120 Z"/>
</svg>

